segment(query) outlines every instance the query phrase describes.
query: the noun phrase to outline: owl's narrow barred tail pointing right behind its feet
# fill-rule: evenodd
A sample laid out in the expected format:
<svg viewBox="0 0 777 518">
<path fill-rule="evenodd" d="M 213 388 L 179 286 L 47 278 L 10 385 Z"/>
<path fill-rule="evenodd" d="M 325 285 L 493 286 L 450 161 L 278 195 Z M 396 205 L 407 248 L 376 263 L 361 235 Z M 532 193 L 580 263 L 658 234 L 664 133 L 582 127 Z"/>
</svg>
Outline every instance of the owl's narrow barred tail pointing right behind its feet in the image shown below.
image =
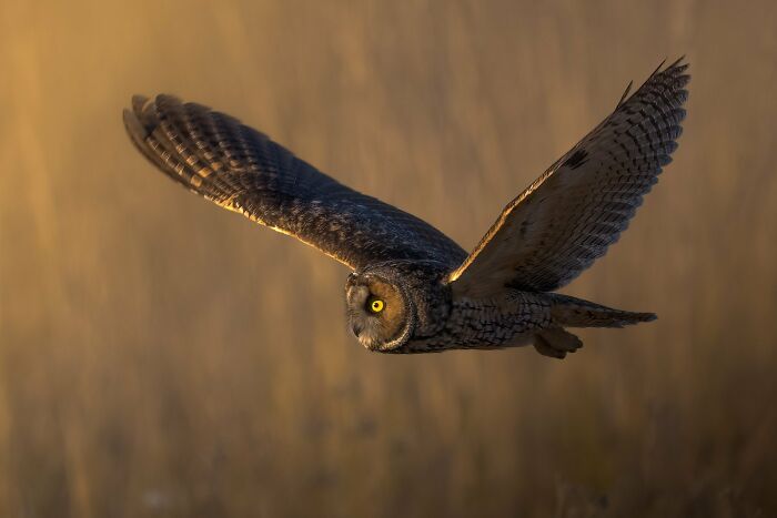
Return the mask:
<svg viewBox="0 0 777 518">
<path fill-rule="evenodd" d="M 551 296 L 551 317 L 562 327 L 624 327 L 656 319 L 655 313 L 614 309 L 556 293 Z"/>
</svg>

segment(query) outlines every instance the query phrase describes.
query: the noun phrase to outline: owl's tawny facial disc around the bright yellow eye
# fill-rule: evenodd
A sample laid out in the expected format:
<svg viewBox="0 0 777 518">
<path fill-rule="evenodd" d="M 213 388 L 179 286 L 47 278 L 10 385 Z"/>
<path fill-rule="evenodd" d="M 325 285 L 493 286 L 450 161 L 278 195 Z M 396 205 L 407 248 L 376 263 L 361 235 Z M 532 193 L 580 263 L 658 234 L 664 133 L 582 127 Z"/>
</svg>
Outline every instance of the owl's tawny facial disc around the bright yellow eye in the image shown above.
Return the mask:
<svg viewBox="0 0 777 518">
<path fill-rule="evenodd" d="M 412 334 L 412 307 L 402 290 L 375 275 L 352 274 L 345 285 L 349 326 L 371 351 L 400 347 Z"/>
</svg>

